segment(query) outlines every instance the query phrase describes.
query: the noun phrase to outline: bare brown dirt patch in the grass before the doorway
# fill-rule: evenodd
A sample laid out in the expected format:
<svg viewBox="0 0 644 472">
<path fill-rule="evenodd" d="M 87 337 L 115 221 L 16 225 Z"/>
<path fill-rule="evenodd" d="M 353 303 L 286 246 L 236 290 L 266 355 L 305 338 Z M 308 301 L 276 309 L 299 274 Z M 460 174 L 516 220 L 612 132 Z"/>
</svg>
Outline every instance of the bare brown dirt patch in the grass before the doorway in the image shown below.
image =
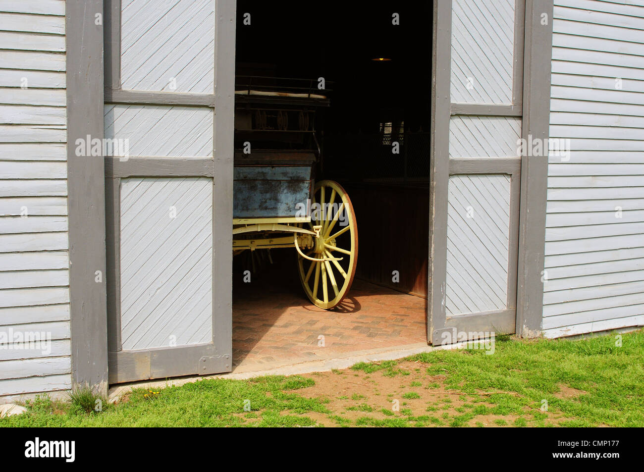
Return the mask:
<svg viewBox="0 0 644 472">
<path fill-rule="evenodd" d="M 487 399 L 495 392 L 458 392 L 445 385 L 446 374 L 430 375 L 426 368 L 426 364 L 407 361 L 371 373 L 350 369 L 317 372 L 304 375 L 316 384 L 297 392 L 324 399 L 332 413 L 316 414 L 315 418 L 307 415 L 323 426 L 521 425 L 522 415 L 489 412 L 495 405 Z M 526 408 L 531 419 L 529 411 Z M 551 415 L 546 416 L 546 424 L 556 424 Z"/>
</svg>

